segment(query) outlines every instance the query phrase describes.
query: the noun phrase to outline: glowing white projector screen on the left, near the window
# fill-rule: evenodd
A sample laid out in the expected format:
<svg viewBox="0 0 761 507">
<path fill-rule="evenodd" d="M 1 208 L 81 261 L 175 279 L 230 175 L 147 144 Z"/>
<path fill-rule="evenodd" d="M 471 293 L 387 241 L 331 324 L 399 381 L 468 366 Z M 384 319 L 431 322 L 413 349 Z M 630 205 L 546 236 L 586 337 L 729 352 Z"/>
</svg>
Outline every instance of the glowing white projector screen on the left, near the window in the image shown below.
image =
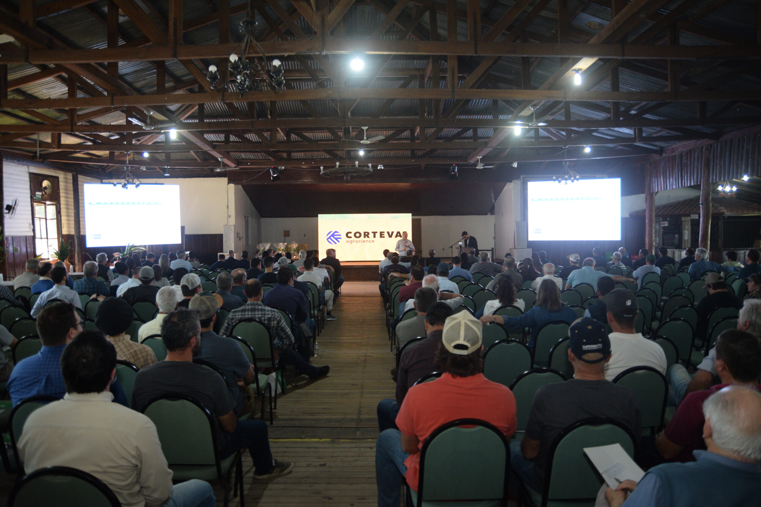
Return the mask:
<svg viewBox="0 0 761 507">
<path fill-rule="evenodd" d="M 180 185 L 85 183 L 84 227 L 88 248 L 180 243 Z"/>
</svg>

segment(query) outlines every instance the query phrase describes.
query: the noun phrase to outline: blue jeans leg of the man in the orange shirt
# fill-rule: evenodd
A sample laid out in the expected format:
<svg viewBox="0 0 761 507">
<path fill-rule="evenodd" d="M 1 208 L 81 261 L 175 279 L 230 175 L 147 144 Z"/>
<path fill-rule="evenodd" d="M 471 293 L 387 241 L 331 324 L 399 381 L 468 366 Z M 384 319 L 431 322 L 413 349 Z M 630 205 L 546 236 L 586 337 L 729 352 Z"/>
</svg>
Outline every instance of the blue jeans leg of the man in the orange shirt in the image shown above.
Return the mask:
<svg viewBox="0 0 761 507">
<path fill-rule="evenodd" d="M 402 450 L 402 434 L 387 429 L 375 443 L 375 481 L 378 507 L 399 507 L 402 477 L 407 471 L 404 461 L 409 454 Z"/>
</svg>

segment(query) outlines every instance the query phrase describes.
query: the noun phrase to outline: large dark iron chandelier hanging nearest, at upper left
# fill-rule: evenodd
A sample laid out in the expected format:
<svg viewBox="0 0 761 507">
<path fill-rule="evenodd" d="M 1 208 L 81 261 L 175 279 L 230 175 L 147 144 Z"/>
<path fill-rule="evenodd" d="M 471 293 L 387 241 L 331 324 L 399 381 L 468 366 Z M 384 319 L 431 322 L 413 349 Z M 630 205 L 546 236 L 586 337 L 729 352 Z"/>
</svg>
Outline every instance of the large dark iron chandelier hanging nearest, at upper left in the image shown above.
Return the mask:
<svg viewBox="0 0 761 507">
<path fill-rule="evenodd" d="M 216 65 L 209 65 L 209 71 L 206 72 L 206 79 L 212 85 L 212 89 L 220 90 L 228 82 L 232 82 L 235 89 L 243 97 L 251 91 L 269 91 L 281 93 L 285 90 L 285 79 L 283 78 L 283 65 L 279 59 L 272 59 L 272 70 L 267 72 L 267 55 L 262 46 L 256 42 L 256 20 L 251 14 L 251 3 L 248 4 L 248 11 L 243 21 L 240 21 L 240 27 L 245 32 L 244 40 L 235 48 L 240 48 L 240 58 L 236 52 L 230 55 L 228 65 L 228 77 L 220 81 L 219 69 Z M 252 46 L 254 49 L 252 49 Z M 249 52 L 251 53 L 249 54 Z M 258 52 L 258 54 L 256 54 Z"/>
</svg>

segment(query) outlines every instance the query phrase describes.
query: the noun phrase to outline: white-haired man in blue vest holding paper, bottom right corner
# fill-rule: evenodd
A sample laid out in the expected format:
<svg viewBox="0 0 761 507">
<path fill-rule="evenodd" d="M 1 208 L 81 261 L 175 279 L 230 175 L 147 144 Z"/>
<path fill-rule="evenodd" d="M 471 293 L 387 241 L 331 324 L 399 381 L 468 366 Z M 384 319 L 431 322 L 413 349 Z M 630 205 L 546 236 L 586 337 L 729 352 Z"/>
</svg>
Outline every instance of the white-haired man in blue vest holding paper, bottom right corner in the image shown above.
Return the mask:
<svg viewBox="0 0 761 507">
<path fill-rule="evenodd" d="M 731 385 L 708 398 L 702 413 L 702 438 L 708 450 L 695 451 L 697 461 L 661 464 L 648 470 L 639 483 L 624 480 L 616 490 L 607 488 L 607 505 L 758 505 L 761 393 Z M 605 505 L 600 496 L 597 505 Z"/>
</svg>

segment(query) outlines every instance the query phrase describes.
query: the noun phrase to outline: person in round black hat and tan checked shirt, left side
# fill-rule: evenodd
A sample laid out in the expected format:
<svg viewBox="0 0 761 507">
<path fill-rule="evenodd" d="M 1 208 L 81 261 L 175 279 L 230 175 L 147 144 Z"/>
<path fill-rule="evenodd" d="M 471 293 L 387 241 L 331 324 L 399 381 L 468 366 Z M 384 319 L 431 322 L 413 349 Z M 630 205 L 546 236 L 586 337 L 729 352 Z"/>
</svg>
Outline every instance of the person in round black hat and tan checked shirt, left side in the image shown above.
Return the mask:
<svg viewBox="0 0 761 507">
<path fill-rule="evenodd" d="M 116 359 L 129 361 L 143 369 L 156 363 L 156 354 L 151 347 L 132 341 L 132 337 L 126 334 L 125 331 L 132 325 L 133 320 L 135 314 L 132 312 L 132 306 L 119 297 L 103 299 L 95 312 L 95 325 L 116 347 Z"/>
</svg>

